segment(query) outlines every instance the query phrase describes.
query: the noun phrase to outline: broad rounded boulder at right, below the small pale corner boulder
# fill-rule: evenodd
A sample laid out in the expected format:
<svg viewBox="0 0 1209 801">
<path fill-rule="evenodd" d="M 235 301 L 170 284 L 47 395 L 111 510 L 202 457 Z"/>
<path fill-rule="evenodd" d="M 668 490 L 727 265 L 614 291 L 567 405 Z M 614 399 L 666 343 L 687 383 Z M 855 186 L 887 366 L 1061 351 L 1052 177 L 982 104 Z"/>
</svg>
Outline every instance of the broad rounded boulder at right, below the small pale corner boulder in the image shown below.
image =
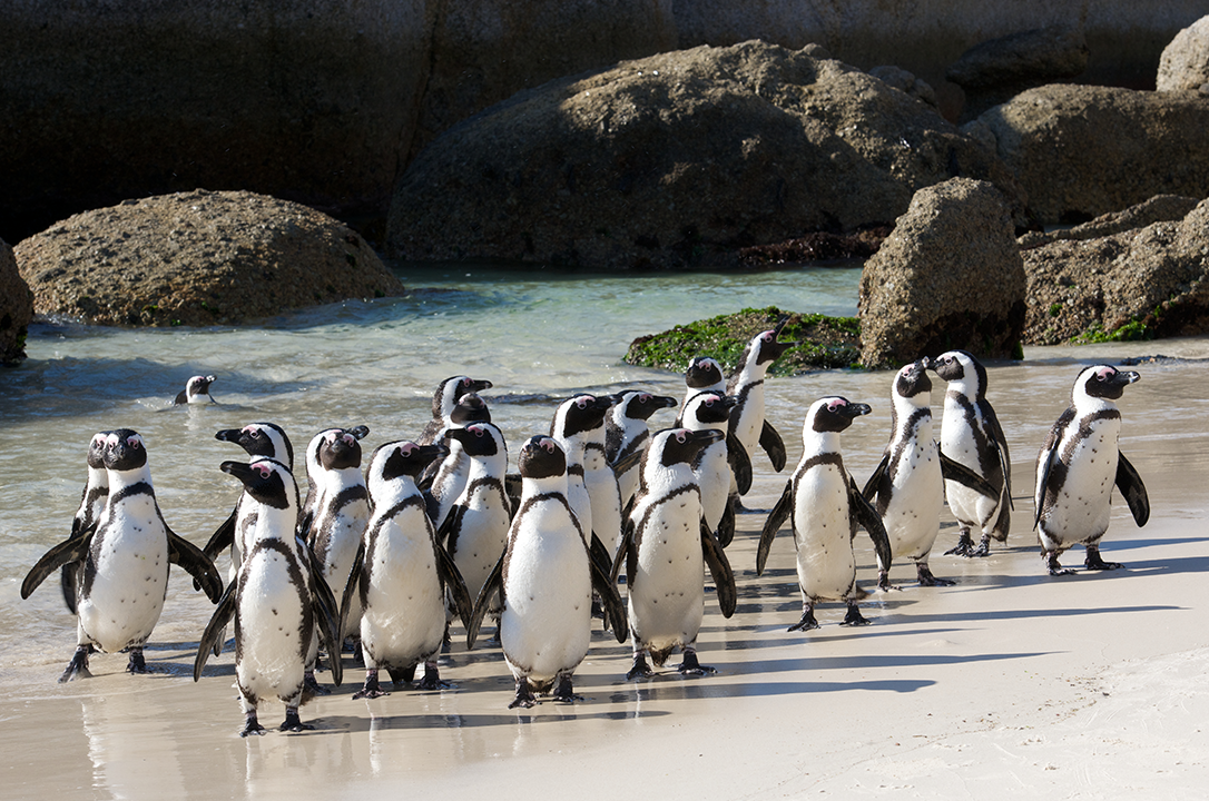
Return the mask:
<svg viewBox="0 0 1209 801">
<path fill-rule="evenodd" d="M 1209 187 L 1209 103 L 1197 94 L 1043 86 L 971 126 L 995 138 L 1046 225 L 1084 222 L 1156 195 L 1204 197 Z"/>
</svg>

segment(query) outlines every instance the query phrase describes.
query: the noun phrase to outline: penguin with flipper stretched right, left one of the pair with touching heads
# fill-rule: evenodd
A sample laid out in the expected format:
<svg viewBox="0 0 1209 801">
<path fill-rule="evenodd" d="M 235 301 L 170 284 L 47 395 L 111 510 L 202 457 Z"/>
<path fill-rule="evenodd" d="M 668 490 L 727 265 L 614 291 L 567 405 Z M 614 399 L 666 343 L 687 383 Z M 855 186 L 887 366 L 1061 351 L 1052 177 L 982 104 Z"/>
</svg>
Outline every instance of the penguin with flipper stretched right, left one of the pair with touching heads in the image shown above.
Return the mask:
<svg viewBox="0 0 1209 801">
<path fill-rule="evenodd" d="M 932 382 L 927 359 L 913 361 L 895 376 L 890 393 L 890 442 L 862 495 L 874 504 L 890 536 L 892 557 L 912 559 L 921 587 L 951 586 L 927 565 L 939 533 L 944 480 L 956 481 L 997 499 L 995 488 L 978 474 L 941 453 L 932 439 Z M 878 564 L 878 587 L 890 590 L 890 564 Z"/>
</svg>

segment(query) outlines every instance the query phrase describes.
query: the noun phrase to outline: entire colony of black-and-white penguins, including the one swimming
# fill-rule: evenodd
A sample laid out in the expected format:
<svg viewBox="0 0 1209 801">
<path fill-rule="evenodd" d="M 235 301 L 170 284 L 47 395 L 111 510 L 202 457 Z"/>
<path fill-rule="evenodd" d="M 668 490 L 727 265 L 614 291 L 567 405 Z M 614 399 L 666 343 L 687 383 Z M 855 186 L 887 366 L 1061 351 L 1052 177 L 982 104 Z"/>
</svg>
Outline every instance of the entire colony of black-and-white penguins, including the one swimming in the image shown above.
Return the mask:
<svg viewBox="0 0 1209 801">
<path fill-rule="evenodd" d="M 369 459 L 364 425 L 313 435 L 305 495 L 279 425 L 220 430 L 215 439 L 241 446 L 248 460 L 216 465 L 241 494 L 203 548 L 164 521 L 143 437 L 99 431 L 71 533 L 33 567 L 22 597 L 60 571 L 77 619 L 60 681 L 88 675 L 98 650 L 128 652 L 127 669 L 141 673 L 169 565 L 184 568 L 215 604 L 198 639 L 195 680 L 233 622 L 242 736 L 264 733 L 258 708 L 268 698 L 285 707 L 282 730 L 310 727 L 300 706 L 330 691 L 316 679 L 320 654 L 339 686 L 343 652 L 353 650 L 365 668 L 354 698 L 388 693 L 382 669 L 393 689 L 412 683 L 421 667 L 420 689 L 449 686 L 438 657 L 450 646 L 451 625 L 462 623 L 470 649 L 488 616 L 515 681 L 514 708 L 543 693 L 582 700 L 573 677 L 594 619 L 619 644 L 631 640 L 627 679 L 655 677 L 676 650 L 678 673 L 711 673 L 696 649 L 707 584 L 718 613 L 730 617 L 739 590 L 727 546 L 736 515 L 754 511 L 741 498 L 752 486 L 756 447 L 775 471 L 788 462 L 764 405 L 768 368 L 793 344 L 780 335 L 779 326 L 753 337 L 729 381 L 716 360 L 694 359 L 683 401 L 641 390 L 571 395 L 553 411 L 549 431 L 519 448 L 519 476 L 508 472 L 504 434 L 479 394 L 491 382 L 467 376 L 440 382 L 432 419 L 413 441 L 392 439 Z M 938 436 L 929 372 L 947 384 Z M 208 397 L 214 378 L 202 378 L 197 388 L 191 379 L 186 402 Z M 1149 518 L 1143 480 L 1117 446 L 1116 401 L 1138 378 L 1109 365 L 1081 368 L 1070 407 L 1039 453 L 1032 523 L 1052 575 L 1070 573 L 1058 559 L 1076 544 L 1087 551 L 1087 569 L 1121 567 L 1099 551 L 1113 487 L 1138 526 Z M 789 631 L 817 628 L 815 606 L 825 602 L 848 606 L 843 625 L 869 622 L 858 606 L 868 596 L 857 584 L 858 529 L 873 542 L 881 591 L 895 588 L 895 559 L 914 563 L 920 586 L 954 584 L 929 563 L 945 503 L 960 527 L 948 553 L 985 557 L 993 540 L 1007 539 L 1011 459 L 987 389 L 985 368 L 964 350 L 903 366 L 891 384 L 890 440 L 863 486 L 844 465 L 841 434 L 872 406 L 838 395 L 809 406 L 800 460 L 756 546 L 759 576 L 788 522 L 802 596 Z M 670 426 L 650 423 L 677 407 Z M 225 586 L 214 564 L 224 552 Z"/>
</svg>

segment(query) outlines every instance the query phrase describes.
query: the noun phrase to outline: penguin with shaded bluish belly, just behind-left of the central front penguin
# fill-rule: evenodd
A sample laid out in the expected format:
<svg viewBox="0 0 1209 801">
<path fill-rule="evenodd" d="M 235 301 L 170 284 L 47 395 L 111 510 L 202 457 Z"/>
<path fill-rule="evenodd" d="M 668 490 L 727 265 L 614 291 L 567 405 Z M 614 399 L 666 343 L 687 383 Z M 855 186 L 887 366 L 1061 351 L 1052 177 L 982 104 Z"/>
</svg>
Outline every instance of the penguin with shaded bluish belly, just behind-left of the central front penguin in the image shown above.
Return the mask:
<svg viewBox="0 0 1209 801">
<path fill-rule="evenodd" d="M 450 429 L 449 436 L 470 464 L 465 489 L 441 522 L 436 540 L 449 550 L 470 598 L 478 598 L 508 545 L 513 512 L 504 488 L 508 447 L 503 433 L 491 423 Z M 499 617 L 498 599 L 488 611 Z"/>
</svg>

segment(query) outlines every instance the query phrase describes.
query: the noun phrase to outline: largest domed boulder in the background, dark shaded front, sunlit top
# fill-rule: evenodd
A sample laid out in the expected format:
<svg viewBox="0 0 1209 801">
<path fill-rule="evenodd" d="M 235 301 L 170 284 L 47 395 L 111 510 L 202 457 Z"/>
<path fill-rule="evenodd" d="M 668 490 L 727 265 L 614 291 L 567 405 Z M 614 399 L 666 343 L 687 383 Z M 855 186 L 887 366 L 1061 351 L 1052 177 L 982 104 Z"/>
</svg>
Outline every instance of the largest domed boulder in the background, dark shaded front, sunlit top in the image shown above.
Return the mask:
<svg viewBox="0 0 1209 801">
<path fill-rule="evenodd" d="M 548 83 L 446 132 L 400 180 L 387 249 L 707 267 L 889 222 L 953 175 L 1014 191 L 984 146 L 864 72 L 763 42 L 699 47 Z"/>
</svg>

